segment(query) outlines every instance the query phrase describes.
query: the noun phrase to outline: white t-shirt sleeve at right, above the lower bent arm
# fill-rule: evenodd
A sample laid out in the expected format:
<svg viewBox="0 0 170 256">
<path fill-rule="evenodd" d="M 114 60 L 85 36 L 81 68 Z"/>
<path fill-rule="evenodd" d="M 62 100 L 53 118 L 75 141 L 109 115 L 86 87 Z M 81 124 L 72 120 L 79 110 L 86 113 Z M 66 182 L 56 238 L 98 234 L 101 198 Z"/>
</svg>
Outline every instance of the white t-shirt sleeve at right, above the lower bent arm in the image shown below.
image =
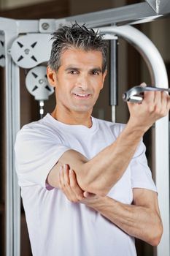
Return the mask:
<svg viewBox="0 0 170 256">
<path fill-rule="evenodd" d="M 147 157 L 145 156 L 146 147 L 144 143 L 139 144 L 139 147 L 131 159 L 131 185 L 132 188 L 143 188 L 157 191 L 155 183 L 152 180 L 150 167 L 147 165 Z"/>
</svg>

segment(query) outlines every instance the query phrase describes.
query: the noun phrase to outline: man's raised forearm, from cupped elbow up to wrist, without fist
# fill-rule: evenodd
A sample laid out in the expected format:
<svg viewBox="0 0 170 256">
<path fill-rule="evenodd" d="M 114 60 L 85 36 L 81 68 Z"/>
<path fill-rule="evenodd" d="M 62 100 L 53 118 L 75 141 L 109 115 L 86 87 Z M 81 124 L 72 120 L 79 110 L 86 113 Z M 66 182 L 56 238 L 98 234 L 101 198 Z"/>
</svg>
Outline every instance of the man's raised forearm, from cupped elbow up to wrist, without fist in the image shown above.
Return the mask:
<svg viewBox="0 0 170 256">
<path fill-rule="evenodd" d="M 107 195 L 123 176 L 143 134 L 142 129 L 127 125 L 114 143 L 82 165 L 82 171 L 77 173 L 80 187 L 98 195 Z"/>
</svg>

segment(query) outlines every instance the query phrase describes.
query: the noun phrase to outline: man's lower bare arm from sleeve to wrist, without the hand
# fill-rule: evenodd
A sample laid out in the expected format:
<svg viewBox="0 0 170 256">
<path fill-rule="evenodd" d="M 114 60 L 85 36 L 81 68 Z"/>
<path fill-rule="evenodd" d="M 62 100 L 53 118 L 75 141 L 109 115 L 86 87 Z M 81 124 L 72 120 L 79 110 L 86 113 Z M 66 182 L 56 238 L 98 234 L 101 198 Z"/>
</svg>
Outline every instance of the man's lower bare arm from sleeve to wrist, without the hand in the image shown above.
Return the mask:
<svg viewBox="0 0 170 256">
<path fill-rule="evenodd" d="M 94 197 L 94 200 L 87 200 L 85 203 L 128 235 L 142 239 L 152 246 L 159 244 L 163 226 L 156 192 L 134 189 L 133 205 L 120 203 L 110 197 Z"/>
</svg>

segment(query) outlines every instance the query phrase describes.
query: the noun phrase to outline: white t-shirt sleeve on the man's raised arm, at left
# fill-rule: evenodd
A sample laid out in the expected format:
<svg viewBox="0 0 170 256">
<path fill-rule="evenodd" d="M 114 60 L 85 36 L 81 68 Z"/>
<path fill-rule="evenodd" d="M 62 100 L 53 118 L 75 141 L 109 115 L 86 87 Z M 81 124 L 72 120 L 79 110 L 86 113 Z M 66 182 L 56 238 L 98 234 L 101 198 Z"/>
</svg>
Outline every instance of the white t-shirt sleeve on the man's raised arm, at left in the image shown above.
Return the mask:
<svg viewBox="0 0 170 256">
<path fill-rule="evenodd" d="M 60 138 L 41 129 L 23 128 L 15 142 L 15 168 L 20 187 L 40 185 L 47 189 L 47 175 L 70 148 Z"/>
</svg>

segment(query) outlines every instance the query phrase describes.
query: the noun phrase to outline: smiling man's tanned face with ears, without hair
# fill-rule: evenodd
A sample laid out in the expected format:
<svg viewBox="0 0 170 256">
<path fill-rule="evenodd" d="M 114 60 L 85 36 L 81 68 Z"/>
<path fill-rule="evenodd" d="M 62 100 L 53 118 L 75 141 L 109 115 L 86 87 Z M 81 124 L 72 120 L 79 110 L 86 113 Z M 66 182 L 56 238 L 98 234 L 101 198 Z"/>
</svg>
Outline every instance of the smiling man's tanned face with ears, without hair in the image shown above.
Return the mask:
<svg viewBox="0 0 170 256">
<path fill-rule="evenodd" d="M 68 49 L 61 55 L 61 66 L 53 72 L 58 108 L 87 112 L 93 109 L 103 88 L 102 53 L 97 50 Z"/>
</svg>

